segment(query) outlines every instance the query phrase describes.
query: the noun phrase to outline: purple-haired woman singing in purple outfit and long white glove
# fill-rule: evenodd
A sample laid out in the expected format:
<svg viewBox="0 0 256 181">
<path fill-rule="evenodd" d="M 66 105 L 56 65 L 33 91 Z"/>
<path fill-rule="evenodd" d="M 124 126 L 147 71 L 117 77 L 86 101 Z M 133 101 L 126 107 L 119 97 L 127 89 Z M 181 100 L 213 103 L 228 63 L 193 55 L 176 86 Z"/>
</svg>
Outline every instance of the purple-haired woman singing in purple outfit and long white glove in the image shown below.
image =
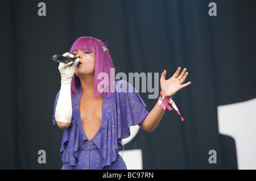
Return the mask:
<svg viewBox="0 0 256 181">
<path fill-rule="evenodd" d="M 59 64 L 61 87 L 53 113 L 53 124 L 64 129 L 62 169 L 126 169 L 118 149 L 122 139 L 130 136 L 129 127 L 139 125 L 147 132 L 154 131 L 169 106 L 170 96 L 191 83 L 183 84 L 188 73 L 186 69 L 180 73 L 178 68 L 166 80 L 164 70 L 158 102 L 148 112 L 133 86 L 125 81 L 111 82 L 110 69 L 114 66 L 101 40 L 80 37 L 69 53 L 63 56 L 77 59 Z M 108 74 L 108 78 L 99 79 L 100 73 Z"/>
</svg>

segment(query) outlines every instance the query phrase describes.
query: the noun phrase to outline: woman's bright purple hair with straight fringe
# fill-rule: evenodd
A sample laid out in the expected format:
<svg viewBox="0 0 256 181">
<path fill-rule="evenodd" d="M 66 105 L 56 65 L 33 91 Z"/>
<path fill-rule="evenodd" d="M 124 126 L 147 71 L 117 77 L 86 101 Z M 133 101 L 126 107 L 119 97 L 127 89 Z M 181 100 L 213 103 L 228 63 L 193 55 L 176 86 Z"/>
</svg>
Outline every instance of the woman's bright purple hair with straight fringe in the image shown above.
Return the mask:
<svg viewBox="0 0 256 181">
<path fill-rule="evenodd" d="M 111 68 L 114 68 L 112 58 L 110 57 L 109 51 L 104 52 L 102 47 L 106 47 L 101 40 L 98 40 L 94 37 L 83 36 L 77 39 L 69 53 L 73 54 L 75 50 L 88 50 L 89 52 L 94 52 L 93 48 L 95 49 L 95 70 L 94 70 L 94 96 L 106 96 L 109 97 L 112 95 L 111 86 L 108 86 L 108 91 L 99 92 L 98 85 L 99 83 L 104 83 L 104 85 L 110 85 L 110 77 L 113 76 L 110 74 Z M 98 74 L 106 73 L 108 74 L 109 79 L 103 80 L 97 79 Z M 77 92 L 78 87 L 81 85 L 79 77 L 76 74 L 72 77 L 71 80 L 71 94 L 75 95 Z"/>
</svg>

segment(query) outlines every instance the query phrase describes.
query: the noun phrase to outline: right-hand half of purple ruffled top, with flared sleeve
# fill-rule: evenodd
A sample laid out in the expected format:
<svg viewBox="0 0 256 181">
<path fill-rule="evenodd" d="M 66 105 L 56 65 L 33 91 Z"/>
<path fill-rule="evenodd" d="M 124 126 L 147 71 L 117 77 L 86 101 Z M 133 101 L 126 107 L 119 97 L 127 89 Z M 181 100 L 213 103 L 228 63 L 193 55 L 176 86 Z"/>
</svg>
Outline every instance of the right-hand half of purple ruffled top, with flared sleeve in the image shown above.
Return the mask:
<svg viewBox="0 0 256 181">
<path fill-rule="evenodd" d="M 103 102 L 102 127 L 92 140 L 104 158 L 103 166 L 109 166 L 118 159 L 122 139 L 130 136 L 129 127 L 141 123 L 148 111 L 138 92 L 125 81 L 115 82 L 113 96 Z"/>
</svg>

